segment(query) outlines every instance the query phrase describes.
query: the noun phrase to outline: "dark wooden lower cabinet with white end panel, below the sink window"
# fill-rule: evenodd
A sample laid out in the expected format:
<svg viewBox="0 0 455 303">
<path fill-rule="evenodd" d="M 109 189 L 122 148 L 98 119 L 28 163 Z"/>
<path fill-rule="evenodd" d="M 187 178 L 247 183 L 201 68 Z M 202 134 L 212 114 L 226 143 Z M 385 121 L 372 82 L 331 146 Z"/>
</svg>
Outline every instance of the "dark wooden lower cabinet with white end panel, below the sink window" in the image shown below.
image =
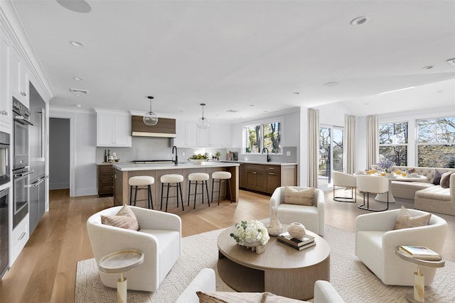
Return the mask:
<svg viewBox="0 0 455 303">
<path fill-rule="evenodd" d="M 273 194 L 280 186 L 296 186 L 297 165 L 267 165 L 242 163 L 240 188 Z"/>
</svg>

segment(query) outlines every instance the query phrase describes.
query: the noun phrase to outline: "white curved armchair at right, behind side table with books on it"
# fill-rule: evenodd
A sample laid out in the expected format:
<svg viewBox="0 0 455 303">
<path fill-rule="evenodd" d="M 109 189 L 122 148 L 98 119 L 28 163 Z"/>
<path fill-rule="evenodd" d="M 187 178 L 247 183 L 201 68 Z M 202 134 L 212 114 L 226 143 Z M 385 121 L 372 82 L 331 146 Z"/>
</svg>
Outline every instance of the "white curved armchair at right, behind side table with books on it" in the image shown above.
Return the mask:
<svg viewBox="0 0 455 303">
<path fill-rule="evenodd" d="M 412 216 L 428 214 L 408 209 Z M 446 237 L 447 222 L 432 214 L 429 225 L 392 230 L 400 209 L 363 214 L 355 220 L 355 255 L 385 285 L 414 285 L 417 265 L 395 255 L 397 246 L 427 246 L 441 253 Z M 432 284 L 436 268 L 421 267 L 425 285 Z"/>
</svg>

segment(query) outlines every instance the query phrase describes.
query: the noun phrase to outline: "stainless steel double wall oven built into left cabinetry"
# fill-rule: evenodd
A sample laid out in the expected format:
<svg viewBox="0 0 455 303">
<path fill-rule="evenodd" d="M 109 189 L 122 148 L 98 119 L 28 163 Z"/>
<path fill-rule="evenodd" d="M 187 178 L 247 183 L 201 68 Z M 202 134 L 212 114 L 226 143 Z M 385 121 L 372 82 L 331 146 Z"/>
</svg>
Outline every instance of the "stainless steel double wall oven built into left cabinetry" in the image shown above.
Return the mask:
<svg viewBox="0 0 455 303">
<path fill-rule="evenodd" d="M 33 170 L 28 165 L 30 111 L 13 97 L 13 228 L 28 214 L 28 183 Z"/>
</svg>

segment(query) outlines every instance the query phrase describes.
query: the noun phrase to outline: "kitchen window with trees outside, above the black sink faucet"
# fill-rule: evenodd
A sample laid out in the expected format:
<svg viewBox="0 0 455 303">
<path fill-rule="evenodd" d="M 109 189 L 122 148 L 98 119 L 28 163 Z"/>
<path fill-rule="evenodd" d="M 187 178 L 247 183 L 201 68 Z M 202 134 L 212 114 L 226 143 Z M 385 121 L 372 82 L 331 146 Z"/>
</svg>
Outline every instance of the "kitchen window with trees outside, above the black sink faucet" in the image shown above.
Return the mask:
<svg viewBox="0 0 455 303">
<path fill-rule="evenodd" d="M 262 153 L 263 148 L 267 148 L 269 153 L 282 153 L 281 122 L 274 121 L 244 126 L 243 131 L 245 133 L 243 149 L 245 153 Z"/>
</svg>

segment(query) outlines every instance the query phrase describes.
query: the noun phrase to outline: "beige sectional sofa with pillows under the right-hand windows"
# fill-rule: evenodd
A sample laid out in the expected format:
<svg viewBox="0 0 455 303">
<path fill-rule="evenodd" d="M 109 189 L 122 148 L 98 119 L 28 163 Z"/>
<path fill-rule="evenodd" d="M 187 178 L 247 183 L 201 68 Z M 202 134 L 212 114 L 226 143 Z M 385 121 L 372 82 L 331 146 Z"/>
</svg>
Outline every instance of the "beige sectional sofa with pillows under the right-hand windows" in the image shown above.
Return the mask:
<svg viewBox="0 0 455 303">
<path fill-rule="evenodd" d="M 396 166 L 392 170 L 413 170 L 427 177 L 420 182 L 392 180 L 391 190 L 395 198 L 414 200 L 414 207 L 424 211 L 455 216 L 455 174 L 450 176 L 449 188 L 432 183 L 434 167 Z M 455 168 L 437 168 L 441 173 L 455 171 Z"/>
</svg>

